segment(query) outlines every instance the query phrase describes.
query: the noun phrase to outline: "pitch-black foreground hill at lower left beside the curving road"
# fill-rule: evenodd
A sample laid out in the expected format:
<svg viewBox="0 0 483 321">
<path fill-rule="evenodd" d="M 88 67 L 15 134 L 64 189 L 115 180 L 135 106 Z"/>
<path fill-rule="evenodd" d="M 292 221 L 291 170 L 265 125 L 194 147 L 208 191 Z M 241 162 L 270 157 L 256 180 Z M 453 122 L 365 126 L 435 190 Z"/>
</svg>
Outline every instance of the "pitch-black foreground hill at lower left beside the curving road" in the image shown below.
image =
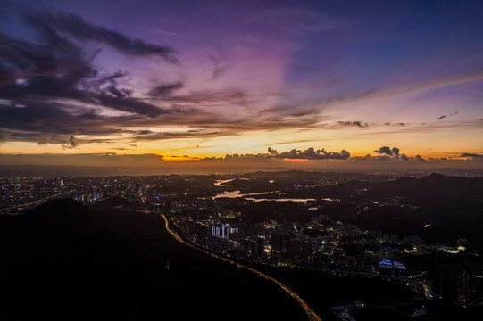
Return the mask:
<svg viewBox="0 0 483 321">
<path fill-rule="evenodd" d="M 0 253 L 2 320 L 306 318 L 277 285 L 178 243 L 154 214 L 47 202 L 0 218 Z"/>
</svg>

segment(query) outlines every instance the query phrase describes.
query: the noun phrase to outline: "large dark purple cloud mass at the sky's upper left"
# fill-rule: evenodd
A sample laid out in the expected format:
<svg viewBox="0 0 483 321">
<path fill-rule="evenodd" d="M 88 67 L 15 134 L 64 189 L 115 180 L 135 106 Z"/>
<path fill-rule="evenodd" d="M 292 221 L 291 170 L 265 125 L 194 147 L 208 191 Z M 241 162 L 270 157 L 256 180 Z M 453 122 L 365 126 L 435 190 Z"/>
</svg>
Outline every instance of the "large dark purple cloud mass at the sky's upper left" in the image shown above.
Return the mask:
<svg viewBox="0 0 483 321">
<path fill-rule="evenodd" d="M 101 50 L 98 45 L 177 63 L 171 48 L 130 39 L 58 10 L 30 10 L 22 17 L 34 31 L 29 40 L 0 33 L 0 128 L 8 133 L 3 140 L 72 148 L 78 142 L 65 136 L 119 134 L 129 130 L 117 128 L 190 111 L 174 105 L 161 108 L 133 97 L 127 71 L 100 72 L 94 63 Z M 156 90 L 169 93 L 179 86 Z"/>
</svg>

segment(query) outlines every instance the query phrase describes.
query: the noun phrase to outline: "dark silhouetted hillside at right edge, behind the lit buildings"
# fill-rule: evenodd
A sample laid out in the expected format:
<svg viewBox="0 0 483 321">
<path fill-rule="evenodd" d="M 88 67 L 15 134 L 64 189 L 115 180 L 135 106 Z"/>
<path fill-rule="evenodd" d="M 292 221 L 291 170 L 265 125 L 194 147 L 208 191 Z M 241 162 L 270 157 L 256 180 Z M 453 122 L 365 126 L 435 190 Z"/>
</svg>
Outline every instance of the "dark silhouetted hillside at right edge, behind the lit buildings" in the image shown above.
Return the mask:
<svg viewBox="0 0 483 321">
<path fill-rule="evenodd" d="M 352 185 L 347 183 L 346 186 Z M 344 218 L 362 228 L 396 235 L 421 235 L 429 243 L 454 244 L 470 241 L 471 248 L 483 251 L 483 179 L 446 177 L 431 174 L 420 179 L 401 177 L 383 183 L 367 183 L 355 195 L 359 200 L 387 200 L 386 206 L 368 205 Z M 391 199 L 399 201 L 390 205 Z M 409 206 L 407 206 L 409 205 Z"/>
</svg>

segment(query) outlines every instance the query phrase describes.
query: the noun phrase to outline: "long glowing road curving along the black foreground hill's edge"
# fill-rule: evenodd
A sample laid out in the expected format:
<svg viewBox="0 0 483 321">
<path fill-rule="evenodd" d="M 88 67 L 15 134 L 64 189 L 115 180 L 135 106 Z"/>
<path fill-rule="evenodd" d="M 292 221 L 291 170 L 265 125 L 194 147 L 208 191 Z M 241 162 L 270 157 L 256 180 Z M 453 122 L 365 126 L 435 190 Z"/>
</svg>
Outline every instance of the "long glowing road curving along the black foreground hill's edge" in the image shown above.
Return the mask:
<svg viewBox="0 0 483 321">
<path fill-rule="evenodd" d="M 309 306 L 307 303 L 305 303 L 304 300 L 302 300 L 302 298 L 300 298 L 296 292 L 293 292 L 292 290 L 290 290 L 286 285 L 282 284 L 279 280 L 277 279 L 274 279 L 273 277 L 271 276 L 267 276 L 266 274 L 254 269 L 254 268 L 250 268 L 250 267 L 247 267 L 243 264 L 240 264 L 240 263 L 237 263 L 235 262 L 234 260 L 231 260 L 231 259 L 226 259 L 226 258 L 223 258 L 222 256 L 220 255 L 217 255 L 217 254 L 214 254 L 210 251 L 206 251 L 202 248 L 199 248 L 193 244 L 190 244 L 190 243 L 187 243 L 186 241 L 184 241 L 181 237 L 179 237 L 179 235 L 176 234 L 176 232 L 174 232 L 173 230 L 171 230 L 170 226 L 169 226 L 169 222 L 168 222 L 168 218 L 166 218 L 166 216 L 164 214 L 161 214 L 162 218 L 164 218 L 164 221 L 166 222 L 166 230 L 168 232 L 170 232 L 171 235 L 174 236 L 174 238 L 176 238 L 180 243 L 183 243 L 191 248 L 194 248 L 198 251 L 203 251 L 204 253 L 206 254 L 209 254 L 211 255 L 213 258 L 216 258 L 216 259 L 221 259 L 225 262 L 228 262 L 230 264 L 234 264 L 236 265 L 238 268 L 246 268 L 247 270 L 249 270 L 250 272 L 253 272 L 254 274 L 257 274 L 259 276 L 262 276 L 263 278 L 266 278 L 267 280 L 270 280 L 271 282 L 279 285 L 279 287 L 281 287 L 285 292 L 287 292 L 288 294 L 290 294 L 290 296 L 294 299 L 297 300 L 297 302 L 302 306 L 302 308 L 304 308 L 305 310 L 305 313 L 307 314 L 307 316 L 309 317 L 309 320 L 311 321 L 321 321 L 321 317 L 319 317 Z"/>
</svg>

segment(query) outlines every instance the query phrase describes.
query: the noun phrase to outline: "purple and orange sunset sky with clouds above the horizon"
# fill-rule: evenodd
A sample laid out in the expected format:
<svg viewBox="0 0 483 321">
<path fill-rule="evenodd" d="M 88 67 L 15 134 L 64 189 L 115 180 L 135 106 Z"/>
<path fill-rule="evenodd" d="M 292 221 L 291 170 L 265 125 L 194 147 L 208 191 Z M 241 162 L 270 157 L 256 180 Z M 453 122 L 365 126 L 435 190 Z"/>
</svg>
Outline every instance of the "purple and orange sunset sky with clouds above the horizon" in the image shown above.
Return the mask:
<svg viewBox="0 0 483 321">
<path fill-rule="evenodd" d="M 483 169 L 481 21 L 482 1 L 0 0 L 0 165 Z"/>
</svg>

